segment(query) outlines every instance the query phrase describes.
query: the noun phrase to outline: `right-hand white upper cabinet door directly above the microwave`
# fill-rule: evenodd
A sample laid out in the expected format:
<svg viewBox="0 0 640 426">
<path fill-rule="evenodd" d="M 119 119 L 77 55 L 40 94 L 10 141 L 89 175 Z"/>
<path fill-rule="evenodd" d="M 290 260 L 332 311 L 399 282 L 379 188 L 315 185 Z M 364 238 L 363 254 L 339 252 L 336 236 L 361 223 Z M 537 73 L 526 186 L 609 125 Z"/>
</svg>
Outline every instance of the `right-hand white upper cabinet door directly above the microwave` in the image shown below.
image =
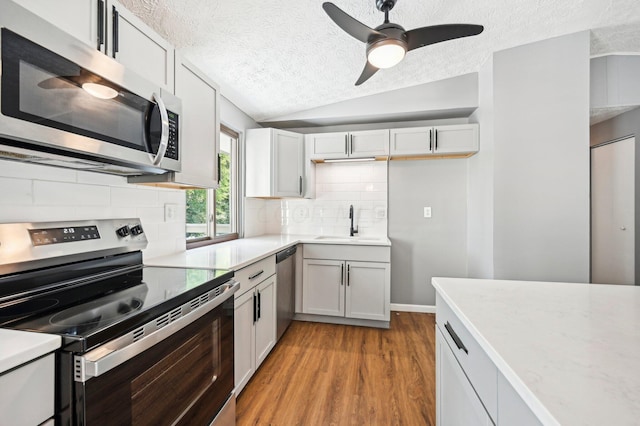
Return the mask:
<svg viewBox="0 0 640 426">
<path fill-rule="evenodd" d="M 106 53 L 173 93 L 174 49 L 116 0 L 106 0 Z"/>
</svg>

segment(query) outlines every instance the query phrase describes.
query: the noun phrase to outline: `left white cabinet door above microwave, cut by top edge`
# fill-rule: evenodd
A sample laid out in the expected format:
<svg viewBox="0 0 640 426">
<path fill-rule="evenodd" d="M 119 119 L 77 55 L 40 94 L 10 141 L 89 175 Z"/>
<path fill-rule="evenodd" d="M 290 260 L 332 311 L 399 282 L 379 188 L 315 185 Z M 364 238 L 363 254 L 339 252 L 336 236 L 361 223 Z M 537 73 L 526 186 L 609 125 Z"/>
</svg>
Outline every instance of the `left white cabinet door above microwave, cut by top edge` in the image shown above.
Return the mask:
<svg viewBox="0 0 640 426">
<path fill-rule="evenodd" d="M 98 0 L 14 0 L 15 3 L 51 22 L 90 46 L 100 49 L 100 18 L 104 25 L 104 2 Z M 99 4 L 102 3 L 102 9 Z"/>
</svg>

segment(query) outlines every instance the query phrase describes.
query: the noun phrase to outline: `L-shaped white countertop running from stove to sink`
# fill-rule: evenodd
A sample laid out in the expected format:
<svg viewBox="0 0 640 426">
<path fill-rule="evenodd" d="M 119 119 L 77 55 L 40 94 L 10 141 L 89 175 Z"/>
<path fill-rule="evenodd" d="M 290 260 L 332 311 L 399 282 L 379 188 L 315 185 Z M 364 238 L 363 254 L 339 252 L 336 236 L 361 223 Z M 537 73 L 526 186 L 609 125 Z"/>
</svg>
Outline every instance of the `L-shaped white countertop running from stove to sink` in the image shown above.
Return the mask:
<svg viewBox="0 0 640 426">
<path fill-rule="evenodd" d="M 230 269 L 237 271 L 299 243 L 390 246 L 386 237 L 330 237 L 316 235 L 262 235 L 240 238 L 180 253 L 145 259 L 148 266 Z"/>
</svg>

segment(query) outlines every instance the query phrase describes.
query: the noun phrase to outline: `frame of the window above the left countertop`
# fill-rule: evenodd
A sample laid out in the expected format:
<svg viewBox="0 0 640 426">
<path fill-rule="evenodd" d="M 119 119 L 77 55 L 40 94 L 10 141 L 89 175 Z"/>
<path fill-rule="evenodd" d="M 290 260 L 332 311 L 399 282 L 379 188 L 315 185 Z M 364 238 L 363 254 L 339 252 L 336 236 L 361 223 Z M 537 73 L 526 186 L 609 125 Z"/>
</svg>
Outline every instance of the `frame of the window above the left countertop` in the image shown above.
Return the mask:
<svg viewBox="0 0 640 426">
<path fill-rule="evenodd" d="M 234 232 L 230 232 L 228 234 L 224 234 L 224 235 L 220 235 L 220 236 L 216 236 L 215 235 L 215 229 L 216 229 L 216 221 L 215 221 L 215 209 L 216 209 L 216 205 L 215 205 L 215 191 L 216 189 L 207 189 L 207 232 L 209 233 L 208 236 L 206 237 L 201 237 L 201 238 L 193 238 L 191 240 L 186 240 L 186 249 L 190 250 L 193 248 L 198 248 L 198 247 L 204 247 L 204 246 L 208 246 L 208 245 L 212 245 L 212 244 L 218 244 L 218 243 L 223 243 L 225 241 L 231 241 L 231 240 L 236 240 L 238 238 L 240 238 L 240 233 L 239 233 L 239 218 L 240 218 L 240 198 L 241 198 L 241 194 L 240 194 L 240 188 L 239 188 L 239 183 L 240 183 L 240 179 L 239 179 L 239 172 L 240 172 L 240 158 L 239 158 L 239 154 L 240 154 L 240 134 L 232 129 L 230 129 L 229 127 L 221 124 L 220 125 L 220 134 L 225 134 L 229 137 L 231 137 L 232 139 L 235 140 L 235 143 L 232 143 L 231 146 L 231 156 L 233 159 L 233 165 L 235 167 L 232 167 L 232 171 L 231 171 L 231 176 L 229 176 L 230 179 L 230 187 L 232 188 L 232 191 L 230 191 L 231 193 L 229 194 L 229 208 L 230 208 L 230 220 L 232 220 L 232 223 L 235 225 L 235 231 Z M 218 139 L 218 143 L 219 139 Z M 220 147 L 218 146 L 217 149 L 217 155 L 216 155 L 216 160 L 218 162 L 218 166 L 216 168 L 217 172 L 218 172 L 218 178 L 220 177 Z M 218 182 L 220 182 L 220 179 L 218 179 Z M 197 188 L 193 188 L 193 189 L 197 189 Z M 185 224 L 186 226 L 186 224 Z M 186 234 L 185 234 L 185 239 L 186 239 Z"/>
</svg>

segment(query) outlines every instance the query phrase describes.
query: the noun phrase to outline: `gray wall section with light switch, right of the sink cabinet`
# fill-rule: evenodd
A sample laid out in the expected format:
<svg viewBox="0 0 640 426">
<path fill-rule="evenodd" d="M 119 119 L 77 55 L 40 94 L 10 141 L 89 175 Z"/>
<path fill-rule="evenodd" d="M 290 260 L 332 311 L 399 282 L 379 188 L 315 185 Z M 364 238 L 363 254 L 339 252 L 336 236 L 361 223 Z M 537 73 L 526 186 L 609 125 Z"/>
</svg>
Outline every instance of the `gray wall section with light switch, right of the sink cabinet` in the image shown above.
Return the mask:
<svg viewBox="0 0 640 426">
<path fill-rule="evenodd" d="M 466 277 L 466 159 L 389 162 L 389 238 L 391 303 L 435 305 L 431 277 Z"/>
</svg>

